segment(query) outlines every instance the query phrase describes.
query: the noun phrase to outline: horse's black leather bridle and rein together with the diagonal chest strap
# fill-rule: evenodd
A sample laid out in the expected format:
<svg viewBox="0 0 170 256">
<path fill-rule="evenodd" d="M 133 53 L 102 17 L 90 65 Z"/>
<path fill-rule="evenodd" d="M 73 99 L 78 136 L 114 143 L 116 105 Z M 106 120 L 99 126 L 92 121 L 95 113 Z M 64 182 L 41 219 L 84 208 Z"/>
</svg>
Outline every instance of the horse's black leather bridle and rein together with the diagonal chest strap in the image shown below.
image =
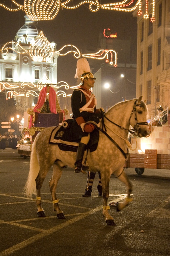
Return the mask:
<svg viewBox="0 0 170 256">
<path fill-rule="evenodd" d="M 148 125 L 148 123 L 147 123 L 147 122 L 141 122 L 141 123 L 138 122 L 138 120 L 137 120 L 137 115 L 136 115 L 136 113 L 137 113 L 137 112 L 136 112 L 136 107 L 137 107 L 137 106 L 140 106 L 140 107 L 141 107 L 141 104 L 136 104 L 136 102 L 137 102 L 137 100 L 135 101 L 135 103 L 134 103 L 134 105 L 133 105 L 133 109 L 132 109 L 132 112 L 131 112 L 130 118 L 129 118 L 129 124 L 130 124 L 130 119 L 131 119 L 131 117 L 132 117 L 132 114 L 135 113 L 135 121 L 136 121 L 136 124 L 135 124 L 135 126 L 133 127 L 133 129 L 131 129 L 131 130 L 129 130 L 129 129 L 127 129 L 127 128 L 124 128 L 124 127 L 122 127 L 122 126 L 120 126 L 120 125 L 114 123 L 114 122 L 111 121 L 110 119 L 108 119 L 108 118 L 106 117 L 106 115 L 105 115 L 106 113 L 103 112 L 102 109 L 101 109 L 101 113 L 102 113 L 102 128 L 100 128 L 100 131 L 101 131 L 102 133 L 104 133 L 104 134 L 108 137 L 108 139 L 120 150 L 120 152 L 123 154 L 123 156 L 125 157 L 126 160 L 127 160 L 127 157 L 128 157 L 128 152 L 125 153 L 125 152 L 123 151 L 123 149 L 107 134 L 106 127 L 105 127 L 105 124 L 104 124 L 104 118 L 106 118 L 109 122 L 111 122 L 112 124 L 118 126 L 119 128 L 121 128 L 121 129 L 123 129 L 123 130 L 126 130 L 126 131 L 128 131 L 129 133 L 138 136 L 138 135 L 139 135 L 139 130 L 140 130 L 139 125 Z M 104 129 L 103 129 L 103 128 L 104 128 Z M 105 131 L 104 131 L 104 130 L 105 130 Z M 128 149 L 127 149 L 127 150 L 128 150 Z"/>
</svg>

